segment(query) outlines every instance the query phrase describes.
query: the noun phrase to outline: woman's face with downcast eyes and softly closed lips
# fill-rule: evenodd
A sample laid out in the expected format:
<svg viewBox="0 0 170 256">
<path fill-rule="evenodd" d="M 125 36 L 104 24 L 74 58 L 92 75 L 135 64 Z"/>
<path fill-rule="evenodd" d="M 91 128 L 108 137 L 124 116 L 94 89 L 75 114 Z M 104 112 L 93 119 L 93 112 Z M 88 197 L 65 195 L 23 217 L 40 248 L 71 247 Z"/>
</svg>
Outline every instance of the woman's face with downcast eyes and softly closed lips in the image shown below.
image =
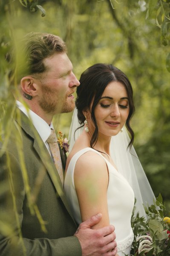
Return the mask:
<svg viewBox="0 0 170 256">
<path fill-rule="evenodd" d="M 117 135 L 128 115 L 129 100 L 125 86 L 121 82 L 110 82 L 95 108 L 99 136 Z"/>
</svg>

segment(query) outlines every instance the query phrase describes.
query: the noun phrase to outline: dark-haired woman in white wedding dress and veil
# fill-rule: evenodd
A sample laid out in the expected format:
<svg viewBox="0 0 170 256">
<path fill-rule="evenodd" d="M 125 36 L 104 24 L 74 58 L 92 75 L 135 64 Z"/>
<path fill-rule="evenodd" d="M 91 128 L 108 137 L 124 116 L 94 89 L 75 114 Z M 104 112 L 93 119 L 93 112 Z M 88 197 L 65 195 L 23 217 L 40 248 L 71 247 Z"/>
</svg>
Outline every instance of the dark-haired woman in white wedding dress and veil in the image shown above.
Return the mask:
<svg viewBox="0 0 170 256">
<path fill-rule="evenodd" d="M 93 228 L 114 225 L 118 256 L 130 255 L 135 197 L 143 216 L 142 204 L 154 198 L 132 146 L 133 89 L 118 68 L 95 64 L 81 75 L 77 95 L 64 190 L 78 224 L 101 212 Z"/>
</svg>

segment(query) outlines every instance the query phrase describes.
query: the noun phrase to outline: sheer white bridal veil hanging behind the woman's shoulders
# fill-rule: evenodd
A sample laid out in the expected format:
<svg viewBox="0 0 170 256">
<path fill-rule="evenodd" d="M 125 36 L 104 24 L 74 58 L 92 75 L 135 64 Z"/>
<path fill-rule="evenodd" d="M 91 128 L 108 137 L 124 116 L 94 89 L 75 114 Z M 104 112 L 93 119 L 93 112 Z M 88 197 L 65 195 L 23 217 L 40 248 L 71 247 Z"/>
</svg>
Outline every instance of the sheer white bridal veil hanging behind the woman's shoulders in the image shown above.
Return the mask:
<svg viewBox="0 0 170 256">
<path fill-rule="evenodd" d="M 75 132 L 78 127 L 80 127 L 80 124 L 78 122 L 77 109 L 75 108 L 69 130 L 69 151 L 72 150 L 76 139 L 84 129 L 84 127 L 82 127 Z M 151 205 L 155 196 L 134 147 L 132 146 L 130 150 L 129 148 L 127 149 L 129 142 L 130 138 L 126 127 L 124 127 L 123 132 L 119 132 L 118 135 L 112 136 L 110 155 L 118 172 L 127 179 L 133 188 L 136 198 L 136 212 L 139 212 L 140 216 L 146 217 L 143 204 Z"/>
</svg>

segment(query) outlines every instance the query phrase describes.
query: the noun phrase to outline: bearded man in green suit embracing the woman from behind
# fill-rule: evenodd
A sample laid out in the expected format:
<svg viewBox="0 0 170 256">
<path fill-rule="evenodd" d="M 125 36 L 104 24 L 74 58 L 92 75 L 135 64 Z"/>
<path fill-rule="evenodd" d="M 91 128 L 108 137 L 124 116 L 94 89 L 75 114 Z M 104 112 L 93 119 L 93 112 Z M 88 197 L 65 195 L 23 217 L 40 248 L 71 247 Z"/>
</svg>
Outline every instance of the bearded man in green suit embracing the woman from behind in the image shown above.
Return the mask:
<svg viewBox="0 0 170 256">
<path fill-rule="evenodd" d="M 7 146 L 0 144 L 0 255 L 115 256 L 114 227 L 91 229 L 101 214 L 77 227 L 56 168 L 65 168 L 63 151 L 54 156 L 48 142 L 53 116 L 74 109 L 79 85 L 66 45 L 58 36 L 30 33 L 20 53 L 15 118 Z"/>
</svg>

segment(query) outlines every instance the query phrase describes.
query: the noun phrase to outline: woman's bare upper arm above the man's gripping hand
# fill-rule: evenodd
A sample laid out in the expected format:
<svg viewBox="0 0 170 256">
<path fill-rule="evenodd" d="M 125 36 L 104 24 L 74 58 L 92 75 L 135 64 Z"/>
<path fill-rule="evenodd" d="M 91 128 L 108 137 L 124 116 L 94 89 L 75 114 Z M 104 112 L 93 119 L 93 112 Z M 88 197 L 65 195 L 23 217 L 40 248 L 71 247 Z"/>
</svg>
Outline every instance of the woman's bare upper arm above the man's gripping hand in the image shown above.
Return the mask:
<svg viewBox="0 0 170 256">
<path fill-rule="evenodd" d="M 75 165 L 74 182 L 82 221 L 101 212 L 102 219 L 93 228 L 109 225 L 107 207 L 109 175 L 104 159 L 92 151 L 84 153 Z"/>
</svg>

